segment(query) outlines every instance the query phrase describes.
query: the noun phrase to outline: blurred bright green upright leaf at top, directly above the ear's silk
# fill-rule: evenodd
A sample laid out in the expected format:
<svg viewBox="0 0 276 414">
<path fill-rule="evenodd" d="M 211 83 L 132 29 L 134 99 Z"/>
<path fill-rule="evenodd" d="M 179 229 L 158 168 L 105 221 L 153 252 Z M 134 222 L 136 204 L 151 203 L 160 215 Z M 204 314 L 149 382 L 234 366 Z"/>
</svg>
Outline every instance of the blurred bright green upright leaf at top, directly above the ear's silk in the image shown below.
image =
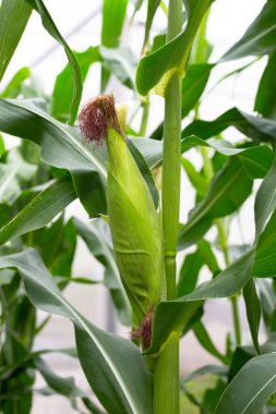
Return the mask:
<svg viewBox="0 0 276 414">
<path fill-rule="evenodd" d="M 106 48 L 118 48 L 125 19 L 128 0 L 104 0 L 101 45 Z M 110 72 L 105 66 L 101 68 L 100 90 L 105 90 L 108 84 Z"/>
</svg>

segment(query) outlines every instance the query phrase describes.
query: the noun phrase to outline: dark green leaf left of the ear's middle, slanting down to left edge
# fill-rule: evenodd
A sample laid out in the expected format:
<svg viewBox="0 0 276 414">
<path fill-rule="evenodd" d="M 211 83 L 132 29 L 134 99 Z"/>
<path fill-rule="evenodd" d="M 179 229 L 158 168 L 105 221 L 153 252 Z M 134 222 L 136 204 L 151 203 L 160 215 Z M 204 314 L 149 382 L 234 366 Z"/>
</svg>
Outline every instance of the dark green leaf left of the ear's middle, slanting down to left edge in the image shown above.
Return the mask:
<svg viewBox="0 0 276 414">
<path fill-rule="evenodd" d="M 13 238 L 48 224 L 76 198 L 72 179 L 65 174 L 34 197 L 0 230 L 0 245 Z"/>
</svg>

